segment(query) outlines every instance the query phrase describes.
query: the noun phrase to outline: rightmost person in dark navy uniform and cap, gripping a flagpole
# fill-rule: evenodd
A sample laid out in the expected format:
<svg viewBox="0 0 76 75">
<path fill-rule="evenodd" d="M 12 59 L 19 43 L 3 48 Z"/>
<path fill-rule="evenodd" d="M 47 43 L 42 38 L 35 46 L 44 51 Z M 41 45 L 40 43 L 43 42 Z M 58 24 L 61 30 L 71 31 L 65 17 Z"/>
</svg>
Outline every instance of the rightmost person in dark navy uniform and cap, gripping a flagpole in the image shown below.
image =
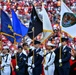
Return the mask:
<svg viewBox="0 0 76 75">
<path fill-rule="evenodd" d="M 71 49 L 67 46 L 68 38 L 63 37 L 61 40 L 61 59 L 59 59 L 60 47 L 55 50 L 55 75 L 69 75 Z"/>
</svg>

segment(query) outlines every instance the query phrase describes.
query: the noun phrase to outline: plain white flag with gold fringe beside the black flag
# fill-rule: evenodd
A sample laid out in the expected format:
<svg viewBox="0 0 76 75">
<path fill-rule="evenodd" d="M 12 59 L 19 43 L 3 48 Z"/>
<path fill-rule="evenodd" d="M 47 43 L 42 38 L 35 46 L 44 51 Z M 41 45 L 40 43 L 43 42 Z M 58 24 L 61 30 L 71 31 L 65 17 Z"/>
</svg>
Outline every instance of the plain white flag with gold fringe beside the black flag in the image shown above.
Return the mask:
<svg viewBox="0 0 76 75">
<path fill-rule="evenodd" d="M 48 14 L 44 8 L 44 5 L 42 5 L 42 17 L 43 17 L 43 38 L 41 42 L 45 41 L 52 33 L 52 25 L 48 17 Z"/>
</svg>

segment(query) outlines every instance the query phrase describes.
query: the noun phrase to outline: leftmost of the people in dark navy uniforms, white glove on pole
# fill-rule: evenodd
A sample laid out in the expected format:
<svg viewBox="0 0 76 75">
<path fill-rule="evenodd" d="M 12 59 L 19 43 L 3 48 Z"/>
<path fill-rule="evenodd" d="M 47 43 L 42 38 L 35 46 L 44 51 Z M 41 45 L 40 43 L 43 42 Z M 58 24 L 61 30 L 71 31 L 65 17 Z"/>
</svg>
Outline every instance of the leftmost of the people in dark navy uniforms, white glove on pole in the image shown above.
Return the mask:
<svg viewBox="0 0 76 75">
<path fill-rule="evenodd" d="M 22 53 L 22 46 L 18 46 L 16 75 L 25 75 L 26 55 Z"/>
</svg>

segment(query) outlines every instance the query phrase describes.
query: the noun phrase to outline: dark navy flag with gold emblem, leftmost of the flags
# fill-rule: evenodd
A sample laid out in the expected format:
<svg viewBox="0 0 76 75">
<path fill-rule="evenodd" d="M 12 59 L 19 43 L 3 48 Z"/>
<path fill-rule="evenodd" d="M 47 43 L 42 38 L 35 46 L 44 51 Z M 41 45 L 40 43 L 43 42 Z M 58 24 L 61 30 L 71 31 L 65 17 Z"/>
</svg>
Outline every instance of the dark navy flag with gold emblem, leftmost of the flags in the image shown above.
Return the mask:
<svg viewBox="0 0 76 75">
<path fill-rule="evenodd" d="M 13 29 L 9 16 L 1 10 L 1 30 L 0 32 L 8 38 L 12 43 L 14 42 Z"/>
</svg>

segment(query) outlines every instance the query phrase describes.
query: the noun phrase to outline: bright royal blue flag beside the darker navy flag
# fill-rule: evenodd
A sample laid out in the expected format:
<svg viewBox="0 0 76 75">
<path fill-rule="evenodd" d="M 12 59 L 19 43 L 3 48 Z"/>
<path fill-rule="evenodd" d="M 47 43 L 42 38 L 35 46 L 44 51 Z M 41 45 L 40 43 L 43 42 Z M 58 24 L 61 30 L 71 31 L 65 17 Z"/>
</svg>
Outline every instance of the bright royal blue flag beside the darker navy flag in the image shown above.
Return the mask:
<svg viewBox="0 0 76 75">
<path fill-rule="evenodd" d="M 16 33 L 15 35 L 16 41 L 20 42 L 21 39 L 25 35 L 27 35 L 28 28 L 20 22 L 14 10 L 12 10 L 12 25 L 13 25 L 13 31 L 14 33 Z"/>
</svg>

